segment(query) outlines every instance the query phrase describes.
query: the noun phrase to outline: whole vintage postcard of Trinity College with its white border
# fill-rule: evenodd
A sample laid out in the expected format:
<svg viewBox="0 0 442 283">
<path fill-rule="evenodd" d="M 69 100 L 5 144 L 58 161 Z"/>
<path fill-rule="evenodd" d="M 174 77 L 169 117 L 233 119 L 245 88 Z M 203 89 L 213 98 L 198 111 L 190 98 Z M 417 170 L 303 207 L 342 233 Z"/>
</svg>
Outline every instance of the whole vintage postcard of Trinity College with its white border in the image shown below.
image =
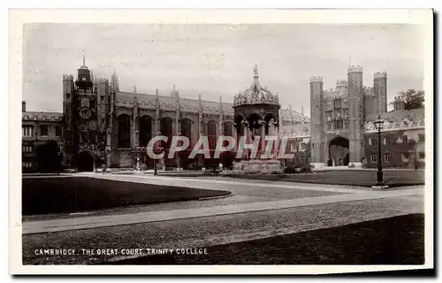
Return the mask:
<svg viewBox="0 0 442 283">
<path fill-rule="evenodd" d="M 11 10 L 12 274 L 432 269 L 431 10 Z"/>
</svg>

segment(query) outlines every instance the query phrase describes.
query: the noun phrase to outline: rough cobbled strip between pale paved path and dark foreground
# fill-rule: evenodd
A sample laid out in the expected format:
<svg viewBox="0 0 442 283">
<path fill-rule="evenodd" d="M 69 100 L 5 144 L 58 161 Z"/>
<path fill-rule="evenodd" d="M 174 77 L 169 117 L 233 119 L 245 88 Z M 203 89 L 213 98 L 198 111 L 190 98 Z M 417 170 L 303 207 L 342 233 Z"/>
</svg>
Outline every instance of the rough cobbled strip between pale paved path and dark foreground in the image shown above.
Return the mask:
<svg viewBox="0 0 442 283">
<path fill-rule="evenodd" d="M 126 258 L 121 249 L 202 248 L 423 212 L 423 195 L 188 218 L 23 236 L 23 264 L 99 264 Z M 76 256 L 39 256 L 38 249 L 75 249 Z M 81 249 L 116 249 L 110 256 Z"/>
</svg>

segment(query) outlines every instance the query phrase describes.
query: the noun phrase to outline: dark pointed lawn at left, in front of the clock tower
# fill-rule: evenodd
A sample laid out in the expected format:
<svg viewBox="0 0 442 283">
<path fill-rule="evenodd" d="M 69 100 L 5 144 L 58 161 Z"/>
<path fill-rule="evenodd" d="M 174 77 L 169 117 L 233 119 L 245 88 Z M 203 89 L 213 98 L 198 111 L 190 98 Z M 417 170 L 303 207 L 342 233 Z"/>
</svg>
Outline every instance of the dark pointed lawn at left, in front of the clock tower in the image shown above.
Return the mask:
<svg viewBox="0 0 442 283">
<path fill-rule="evenodd" d="M 228 195 L 229 191 L 159 186 L 88 177 L 23 178 L 22 214 L 101 210 Z"/>
</svg>

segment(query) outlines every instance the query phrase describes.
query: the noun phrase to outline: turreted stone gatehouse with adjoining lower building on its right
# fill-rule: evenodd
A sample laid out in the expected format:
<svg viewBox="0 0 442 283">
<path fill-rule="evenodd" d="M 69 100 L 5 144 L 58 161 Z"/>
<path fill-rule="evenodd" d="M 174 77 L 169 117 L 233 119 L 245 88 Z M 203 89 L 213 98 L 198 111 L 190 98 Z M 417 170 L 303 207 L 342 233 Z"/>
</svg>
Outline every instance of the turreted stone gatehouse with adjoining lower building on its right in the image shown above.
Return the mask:
<svg viewBox="0 0 442 283">
<path fill-rule="evenodd" d="M 362 75 L 362 66 L 352 65 L 347 80 L 338 80 L 334 89 L 325 89 L 322 77 L 310 77 L 311 164 L 376 167 L 373 122 L 380 114 L 385 119 L 385 141 L 389 141 L 383 148 L 385 166 L 409 167 L 412 159 L 423 166 L 423 109 L 406 111 L 396 97 L 393 111 L 387 111 L 386 72 L 374 73 L 372 87 L 363 85 Z"/>
</svg>

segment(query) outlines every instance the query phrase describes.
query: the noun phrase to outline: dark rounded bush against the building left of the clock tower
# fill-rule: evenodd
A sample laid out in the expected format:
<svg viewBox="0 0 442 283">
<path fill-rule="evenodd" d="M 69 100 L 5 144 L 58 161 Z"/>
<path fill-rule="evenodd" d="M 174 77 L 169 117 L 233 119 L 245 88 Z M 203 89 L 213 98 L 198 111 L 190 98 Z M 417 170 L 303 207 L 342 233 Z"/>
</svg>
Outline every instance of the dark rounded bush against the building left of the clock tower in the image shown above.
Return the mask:
<svg viewBox="0 0 442 283">
<path fill-rule="evenodd" d="M 42 173 L 58 172 L 61 169 L 61 157 L 57 142 L 46 142 L 35 149 L 37 171 Z"/>
</svg>

